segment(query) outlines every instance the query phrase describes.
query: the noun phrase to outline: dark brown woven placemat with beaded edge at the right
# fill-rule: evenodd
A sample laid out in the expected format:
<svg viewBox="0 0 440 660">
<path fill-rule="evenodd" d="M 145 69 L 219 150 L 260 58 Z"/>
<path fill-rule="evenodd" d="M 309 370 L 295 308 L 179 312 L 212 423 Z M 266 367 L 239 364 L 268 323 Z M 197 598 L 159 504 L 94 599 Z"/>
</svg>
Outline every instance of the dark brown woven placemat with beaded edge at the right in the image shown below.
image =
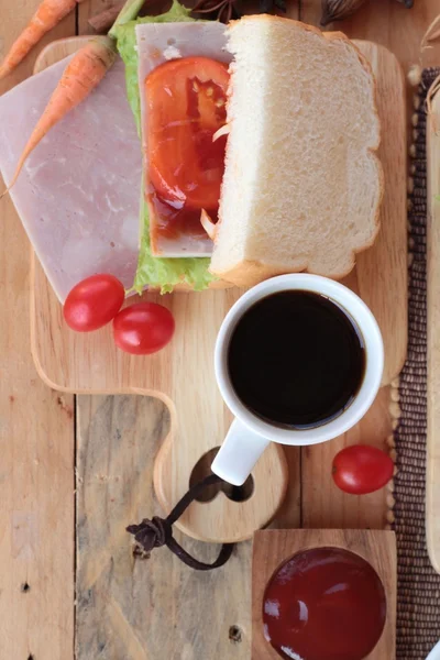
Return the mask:
<svg viewBox="0 0 440 660">
<path fill-rule="evenodd" d="M 440 69 L 425 69 L 415 97 L 409 193 L 409 338 L 396 430 L 395 530 L 398 548 L 397 659 L 425 660 L 440 639 L 440 575 L 425 537 L 427 436 L 427 91 Z M 440 512 L 439 512 L 440 515 Z"/>
</svg>

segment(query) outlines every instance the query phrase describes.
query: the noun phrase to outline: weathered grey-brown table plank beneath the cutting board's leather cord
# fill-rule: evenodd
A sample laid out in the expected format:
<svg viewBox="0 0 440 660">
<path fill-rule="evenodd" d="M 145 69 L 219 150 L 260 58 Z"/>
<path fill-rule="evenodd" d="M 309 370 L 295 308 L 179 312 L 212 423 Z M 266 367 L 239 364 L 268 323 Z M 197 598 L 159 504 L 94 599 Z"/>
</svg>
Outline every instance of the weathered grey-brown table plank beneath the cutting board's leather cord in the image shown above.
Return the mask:
<svg viewBox="0 0 440 660">
<path fill-rule="evenodd" d="M 78 397 L 77 660 L 250 657 L 251 541 L 207 573 L 167 548 L 133 558 L 125 526 L 163 514 L 153 461 L 168 422 L 153 398 Z M 178 530 L 175 537 L 204 561 L 219 552 Z"/>
</svg>

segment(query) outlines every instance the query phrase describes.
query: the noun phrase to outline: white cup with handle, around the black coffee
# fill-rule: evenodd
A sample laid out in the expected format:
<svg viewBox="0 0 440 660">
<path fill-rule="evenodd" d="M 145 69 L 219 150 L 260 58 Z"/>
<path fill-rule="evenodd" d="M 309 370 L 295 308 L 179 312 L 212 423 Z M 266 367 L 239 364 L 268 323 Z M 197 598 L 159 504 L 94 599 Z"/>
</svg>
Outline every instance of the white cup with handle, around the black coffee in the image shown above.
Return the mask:
<svg viewBox="0 0 440 660">
<path fill-rule="evenodd" d="M 229 343 L 245 311 L 261 298 L 283 290 L 299 289 L 321 294 L 337 302 L 355 322 L 365 348 L 365 372 L 353 402 L 339 417 L 316 428 L 289 429 L 264 421 L 237 396 L 228 372 Z M 216 378 L 221 396 L 235 416 L 211 470 L 224 481 L 242 485 L 271 440 L 282 444 L 318 444 L 337 438 L 358 424 L 374 402 L 384 369 L 384 345 L 377 322 L 359 296 L 327 277 L 297 273 L 266 279 L 246 292 L 226 316 L 215 349 Z"/>
</svg>

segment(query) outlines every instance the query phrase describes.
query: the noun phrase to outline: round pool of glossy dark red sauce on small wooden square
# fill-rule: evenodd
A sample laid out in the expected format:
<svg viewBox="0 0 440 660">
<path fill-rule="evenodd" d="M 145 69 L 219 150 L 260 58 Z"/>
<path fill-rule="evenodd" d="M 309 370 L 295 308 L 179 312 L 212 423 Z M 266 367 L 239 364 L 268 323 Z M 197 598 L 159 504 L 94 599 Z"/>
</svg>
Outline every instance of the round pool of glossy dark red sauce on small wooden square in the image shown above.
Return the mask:
<svg viewBox="0 0 440 660">
<path fill-rule="evenodd" d="M 362 660 L 380 640 L 385 618 L 377 573 L 339 548 L 294 556 L 264 594 L 264 635 L 282 658 Z"/>
</svg>

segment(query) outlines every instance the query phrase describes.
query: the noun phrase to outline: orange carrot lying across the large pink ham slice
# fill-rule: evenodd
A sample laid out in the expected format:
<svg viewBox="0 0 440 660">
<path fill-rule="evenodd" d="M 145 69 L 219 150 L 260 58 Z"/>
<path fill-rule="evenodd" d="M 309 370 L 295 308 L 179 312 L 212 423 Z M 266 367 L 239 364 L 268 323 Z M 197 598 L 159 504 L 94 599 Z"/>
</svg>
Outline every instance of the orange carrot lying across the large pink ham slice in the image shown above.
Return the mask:
<svg viewBox="0 0 440 660">
<path fill-rule="evenodd" d="M 24 162 L 38 142 L 98 86 L 116 57 L 116 42 L 107 36 L 89 41 L 74 55 L 24 147 L 11 184 L 1 197 L 12 188 Z"/>
</svg>

